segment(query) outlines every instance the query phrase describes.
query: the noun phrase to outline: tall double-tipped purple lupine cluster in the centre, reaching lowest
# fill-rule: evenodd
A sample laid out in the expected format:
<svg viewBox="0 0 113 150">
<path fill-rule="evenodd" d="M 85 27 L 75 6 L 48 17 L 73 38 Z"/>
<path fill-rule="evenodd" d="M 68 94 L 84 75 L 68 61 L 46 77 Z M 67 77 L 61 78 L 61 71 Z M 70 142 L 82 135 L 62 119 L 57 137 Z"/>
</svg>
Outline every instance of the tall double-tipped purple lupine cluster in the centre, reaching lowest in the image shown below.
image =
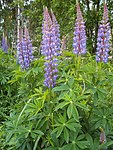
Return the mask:
<svg viewBox="0 0 113 150">
<path fill-rule="evenodd" d="M 45 81 L 48 88 L 56 84 L 58 77 L 57 56 L 60 51 L 59 25 L 53 13 L 49 15 L 47 7 L 44 9 L 44 20 L 42 25 L 42 55 L 45 56 Z"/>
</svg>

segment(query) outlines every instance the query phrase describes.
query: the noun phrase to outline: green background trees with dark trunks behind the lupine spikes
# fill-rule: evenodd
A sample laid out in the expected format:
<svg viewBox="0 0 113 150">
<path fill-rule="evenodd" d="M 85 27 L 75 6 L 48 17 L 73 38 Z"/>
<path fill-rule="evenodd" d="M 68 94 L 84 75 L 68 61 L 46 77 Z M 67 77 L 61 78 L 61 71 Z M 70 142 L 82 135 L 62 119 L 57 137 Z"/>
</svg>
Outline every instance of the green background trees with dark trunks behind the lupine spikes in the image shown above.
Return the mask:
<svg viewBox="0 0 113 150">
<path fill-rule="evenodd" d="M 27 21 L 30 35 L 33 39 L 34 46 L 40 47 L 41 41 L 41 24 L 43 6 L 52 9 L 60 24 L 61 38 L 67 37 L 67 48 L 72 48 L 73 26 L 76 18 L 75 0 L 21 0 L 21 1 L 1 1 L 0 24 L 1 32 L 5 31 L 8 36 L 9 45 L 14 41 L 17 28 L 17 7 L 20 4 L 23 14 L 23 22 Z M 86 21 L 87 47 L 89 52 L 95 53 L 97 43 L 98 24 L 102 17 L 103 4 L 100 0 L 80 0 L 81 9 Z M 107 1 L 109 9 L 110 27 L 113 28 L 113 2 Z M 113 46 L 113 29 L 111 30 Z"/>
</svg>

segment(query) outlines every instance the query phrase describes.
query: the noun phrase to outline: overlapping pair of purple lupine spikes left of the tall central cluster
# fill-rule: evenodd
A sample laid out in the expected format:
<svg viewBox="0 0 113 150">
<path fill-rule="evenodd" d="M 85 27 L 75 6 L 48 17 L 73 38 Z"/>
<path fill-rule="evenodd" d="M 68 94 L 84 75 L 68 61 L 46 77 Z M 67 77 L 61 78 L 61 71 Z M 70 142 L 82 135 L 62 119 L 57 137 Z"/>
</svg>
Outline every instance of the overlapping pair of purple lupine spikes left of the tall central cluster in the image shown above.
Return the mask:
<svg viewBox="0 0 113 150">
<path fill-rule="evenodd" d="M 20 30 L 19 39 L 17 43 L 17 59 L 23 70 L 30 67 L 33 60 L 33 47 L 28 33 L 28 29 L 24 28 L 24 33 Z"/>
</svg>

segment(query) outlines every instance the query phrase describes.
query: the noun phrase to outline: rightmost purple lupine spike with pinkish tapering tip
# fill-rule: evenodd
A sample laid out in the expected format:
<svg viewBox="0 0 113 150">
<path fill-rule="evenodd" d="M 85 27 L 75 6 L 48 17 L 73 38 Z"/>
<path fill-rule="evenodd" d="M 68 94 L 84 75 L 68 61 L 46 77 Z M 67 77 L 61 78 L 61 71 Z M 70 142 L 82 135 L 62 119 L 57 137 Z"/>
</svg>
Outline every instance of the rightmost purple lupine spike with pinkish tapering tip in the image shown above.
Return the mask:
<svg viewBox="0 0 113 150">
<path fill-rule="evenodd" d="M 96 61 L 97 62 L 108 62 L 108 52 L 109 52 L 109 40 L 110 40 L 110 25 L 108 22 L 108 9 L 107 5 L 104 4 L 103 19 L 98 29 L 97 38 L 97 52 Z"/>
</svg>

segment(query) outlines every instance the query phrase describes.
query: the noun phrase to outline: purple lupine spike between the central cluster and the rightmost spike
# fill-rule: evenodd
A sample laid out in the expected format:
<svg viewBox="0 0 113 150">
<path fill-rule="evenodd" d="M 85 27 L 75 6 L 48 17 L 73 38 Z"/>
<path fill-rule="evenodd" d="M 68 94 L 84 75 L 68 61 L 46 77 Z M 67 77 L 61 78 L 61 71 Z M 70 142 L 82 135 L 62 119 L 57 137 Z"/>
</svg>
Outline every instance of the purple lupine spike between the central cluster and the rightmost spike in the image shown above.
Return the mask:
<svg viewBox="0 0 113 150">
<path fill-rule="evenodd" d="M 77 19 L 74 28 L 73 48 L 74 54 L 81 55 L 86 53 L 85 22 L 82 17 L 79 3 L 77 3 Z"/>
</svg>

